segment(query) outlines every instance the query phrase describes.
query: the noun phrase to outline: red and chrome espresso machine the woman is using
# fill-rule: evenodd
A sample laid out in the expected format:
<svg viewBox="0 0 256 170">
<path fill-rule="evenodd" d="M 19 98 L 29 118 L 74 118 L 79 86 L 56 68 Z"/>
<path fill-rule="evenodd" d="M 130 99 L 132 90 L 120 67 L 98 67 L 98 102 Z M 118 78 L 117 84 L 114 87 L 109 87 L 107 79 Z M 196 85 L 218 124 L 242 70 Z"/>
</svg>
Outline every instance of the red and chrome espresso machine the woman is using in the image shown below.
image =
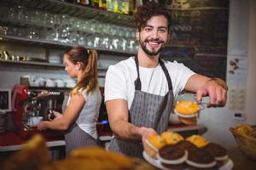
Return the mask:
<svg viewBox="0 0 256 170">
<path fill-rule="evenodd" d="M 21 138 L 30 138 L 34 133 L 42 133 L 45 138 L 62 137 L 61 131 L 39 131 L 31 120 L 40 117 L 48 120 L 49 110 L 61 112 L 64 99 L 63 91 L 57 88 L 30 88 L 17 84 L 12 92 L 12 122 Z"/>
</svg>

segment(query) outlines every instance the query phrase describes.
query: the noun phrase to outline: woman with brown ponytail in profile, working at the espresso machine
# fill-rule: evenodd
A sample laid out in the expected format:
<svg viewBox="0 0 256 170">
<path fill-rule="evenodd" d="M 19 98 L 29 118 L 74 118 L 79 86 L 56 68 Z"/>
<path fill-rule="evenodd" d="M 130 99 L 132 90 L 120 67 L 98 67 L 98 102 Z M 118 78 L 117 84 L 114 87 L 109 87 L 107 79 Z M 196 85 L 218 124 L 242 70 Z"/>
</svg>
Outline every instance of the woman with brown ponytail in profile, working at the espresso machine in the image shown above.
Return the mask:
<svg viewBox="0 0 256 170">
<path fill-rule="evenodd" d="M 40 122 L 39 130 L 66 130 L 66 154 L 83 146 L 97 144 L 96 122 L 102 95 L 97 82 L 97 54 L 83 47 L 67 49 L 64 54 L 65 71 L 78 83 L 71 90 L 63 114 L 53 111 L 55 118 Z"/>
</svg>

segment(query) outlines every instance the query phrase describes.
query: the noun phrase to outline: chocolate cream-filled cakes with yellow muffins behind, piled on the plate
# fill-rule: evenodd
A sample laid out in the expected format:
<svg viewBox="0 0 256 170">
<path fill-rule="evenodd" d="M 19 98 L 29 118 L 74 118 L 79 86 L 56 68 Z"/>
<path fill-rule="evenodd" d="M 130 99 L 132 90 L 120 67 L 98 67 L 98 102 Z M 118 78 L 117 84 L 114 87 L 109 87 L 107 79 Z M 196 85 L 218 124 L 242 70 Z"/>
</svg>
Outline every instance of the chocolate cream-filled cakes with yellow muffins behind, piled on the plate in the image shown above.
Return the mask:
<svg viewBox="0 0 256 170">
<path fill-rule="evenodd" d="M 228 167 L 224 169 L 233 167 L 233 162 L 223 146 L 209 142 L 200 135 L 191 135 L 184 139 L 179 133 L 164 132 L 154 135 L 154 139 L 156 138 L 158 141 L 163 139 L 165 143 L 169 141 L 169 144 L 155 148 L 156 157 L 149 155 L 147 150 L 144 150 L 143 156 L 160 169 L 218 169 L 225 165 Z"/>
</svg>

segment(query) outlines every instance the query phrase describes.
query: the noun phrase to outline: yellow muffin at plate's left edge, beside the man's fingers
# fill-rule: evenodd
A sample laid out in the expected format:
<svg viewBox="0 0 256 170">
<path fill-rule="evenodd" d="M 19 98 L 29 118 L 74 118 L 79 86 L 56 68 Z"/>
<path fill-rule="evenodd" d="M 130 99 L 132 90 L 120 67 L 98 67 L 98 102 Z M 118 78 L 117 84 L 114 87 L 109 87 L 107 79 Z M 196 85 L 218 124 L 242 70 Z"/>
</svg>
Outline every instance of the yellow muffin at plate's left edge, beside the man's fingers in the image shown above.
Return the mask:
<svg viewBox="0 0 256 170">
<path fill-rule="evenodd" d="M 146 144 L 144 145 L 144 150 L 148 156 L 156 159 L 158 150 L 164 145 L 166 145 L 166 142 L 160 137 L 160 135 L 148 136 L 148 139 L 146 139 Z"/>
</svg>

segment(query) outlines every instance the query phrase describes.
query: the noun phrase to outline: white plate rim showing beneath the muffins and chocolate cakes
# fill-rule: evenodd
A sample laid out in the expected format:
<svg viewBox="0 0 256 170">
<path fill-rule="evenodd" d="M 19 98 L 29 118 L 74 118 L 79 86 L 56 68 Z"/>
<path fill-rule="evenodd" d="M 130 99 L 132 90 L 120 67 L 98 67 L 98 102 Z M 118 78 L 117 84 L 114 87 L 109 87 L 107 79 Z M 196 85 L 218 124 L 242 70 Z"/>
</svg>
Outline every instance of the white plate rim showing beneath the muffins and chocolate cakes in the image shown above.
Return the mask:
<svg viewBox="0 0 256 170">
<path fill-rule="evenodd" d="M 170 168 L 162 166 L 160 160 L 155 160 L 152 157 L 148 156 L 145 150 L 143 151 L 143 157 L 146 161 L 148 161 L 148 163 L 150 163 L 154 167 L 157 167 L 163 170 L 172 170 Z M 219 167 L 218 170 L 231 170 L 233 167 L 234 167 L 234 163 L 232 160 L 229 159 L 229 161 L 226 162 L 222 167 Z M 187 169 L 184 169 L 184 170 L 187 170 Z"/>
</svg>

